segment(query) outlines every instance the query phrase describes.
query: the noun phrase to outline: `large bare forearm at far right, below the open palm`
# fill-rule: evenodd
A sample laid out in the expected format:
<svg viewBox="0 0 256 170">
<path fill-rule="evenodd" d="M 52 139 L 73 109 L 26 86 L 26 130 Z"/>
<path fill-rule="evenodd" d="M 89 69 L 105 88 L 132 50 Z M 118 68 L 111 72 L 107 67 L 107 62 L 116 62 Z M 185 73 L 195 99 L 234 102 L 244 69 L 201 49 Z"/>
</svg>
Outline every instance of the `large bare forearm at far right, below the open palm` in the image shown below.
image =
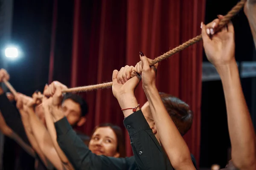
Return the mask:
<svg viewBox="0 0 256 170">
<path fill-rule="evenodd" d="M 232 159 L 238 168 L 256 169 L 256 140 L 253 123 L 241 88 L 236 62 L 217 68 L 220 74 L 232 146 Z"/>
</svg>

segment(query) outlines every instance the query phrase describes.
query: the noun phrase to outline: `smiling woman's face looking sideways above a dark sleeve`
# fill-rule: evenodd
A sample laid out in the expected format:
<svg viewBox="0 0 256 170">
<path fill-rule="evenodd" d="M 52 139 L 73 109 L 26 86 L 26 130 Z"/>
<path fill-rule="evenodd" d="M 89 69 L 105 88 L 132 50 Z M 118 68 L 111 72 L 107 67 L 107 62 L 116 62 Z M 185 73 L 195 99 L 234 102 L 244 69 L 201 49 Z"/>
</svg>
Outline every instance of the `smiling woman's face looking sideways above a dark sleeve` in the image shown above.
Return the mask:
<svg viewBox="0 0 256 170">
<path fill-rule="evenodd" d="M 89 149 L 96 155 L 119 157 L 116 134 L 111 127 L 98 127 L 89 142 Z"/>
</svg>

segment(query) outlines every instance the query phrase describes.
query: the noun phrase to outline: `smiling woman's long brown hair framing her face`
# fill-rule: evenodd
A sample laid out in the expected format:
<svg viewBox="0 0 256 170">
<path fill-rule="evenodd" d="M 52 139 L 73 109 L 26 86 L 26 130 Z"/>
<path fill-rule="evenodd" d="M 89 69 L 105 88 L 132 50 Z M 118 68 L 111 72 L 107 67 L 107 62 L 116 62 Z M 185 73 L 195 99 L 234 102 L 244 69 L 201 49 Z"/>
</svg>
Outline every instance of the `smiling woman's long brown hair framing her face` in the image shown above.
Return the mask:
<svg viewBox="0 0 256 170">
<path fill-rule="evenodd" d="M 100 124 L 99 126 L 96 126 L 93 130 L 93 133 L 99 127 L 110 127 L 113 130 L 113 132 L 116 134 L 116 139 L 117 139 L 116 151 L 120 154 L 119 157 L 124 158 L 126 156 L 126 153 L 125 153 L 125 141 L 124 141 L 122 129 L 119 126 L 113 125 L 111 123 L 103 123 L 103 124 Z M 93 136 L 93 133 L 91 136 Z"/>
</svg>

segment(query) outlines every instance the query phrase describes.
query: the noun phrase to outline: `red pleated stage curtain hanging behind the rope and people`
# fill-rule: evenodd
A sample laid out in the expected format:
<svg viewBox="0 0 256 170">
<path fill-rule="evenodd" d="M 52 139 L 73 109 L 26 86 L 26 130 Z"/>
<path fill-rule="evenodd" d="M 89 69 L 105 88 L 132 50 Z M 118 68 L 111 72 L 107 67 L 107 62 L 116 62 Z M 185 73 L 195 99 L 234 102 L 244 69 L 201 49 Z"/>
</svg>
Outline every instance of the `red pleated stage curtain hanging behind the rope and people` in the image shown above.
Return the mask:
<svg viewBox="0 0 256 170">
<path fill-rule="evenodd" d="M 135 65 L 139 51 L 157 57 L 201 33 L 205 0 L 75 0 L 72 87 L 111 81 L 112 71 Z M 201 124 L 202 43 L 160 63 L 157 87 L 187 102 L 194 112 L 191 130 L 184 136 L 199 161 Z M 123 115 L 111 88 L 81 94 L 89 104 L 81 129 L 90 135 L 103 122 L 123 128 Z M 141 85 L 138 102 L 146 102 Z M 127 156 L 132 155 L 126 133 Z M 197 162 L 199 163 L 199 162 Z"/>
</svg>

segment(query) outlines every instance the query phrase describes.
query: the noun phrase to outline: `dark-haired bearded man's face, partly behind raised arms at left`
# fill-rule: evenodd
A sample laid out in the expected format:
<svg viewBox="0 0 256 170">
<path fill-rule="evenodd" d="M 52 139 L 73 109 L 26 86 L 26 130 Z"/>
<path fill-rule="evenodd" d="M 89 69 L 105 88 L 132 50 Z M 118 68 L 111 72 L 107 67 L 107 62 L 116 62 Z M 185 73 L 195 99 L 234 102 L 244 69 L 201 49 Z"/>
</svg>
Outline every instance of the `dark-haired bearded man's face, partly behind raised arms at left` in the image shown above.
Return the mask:
<svg viewBox="0 0 256 170">
<path fill-rule="evenodd" d="M 66 99 L 62 103 L 62 111 L 71 126 L 76 125 L 81 119 L 81 107 L 72 99 Z"/>
</svg>

